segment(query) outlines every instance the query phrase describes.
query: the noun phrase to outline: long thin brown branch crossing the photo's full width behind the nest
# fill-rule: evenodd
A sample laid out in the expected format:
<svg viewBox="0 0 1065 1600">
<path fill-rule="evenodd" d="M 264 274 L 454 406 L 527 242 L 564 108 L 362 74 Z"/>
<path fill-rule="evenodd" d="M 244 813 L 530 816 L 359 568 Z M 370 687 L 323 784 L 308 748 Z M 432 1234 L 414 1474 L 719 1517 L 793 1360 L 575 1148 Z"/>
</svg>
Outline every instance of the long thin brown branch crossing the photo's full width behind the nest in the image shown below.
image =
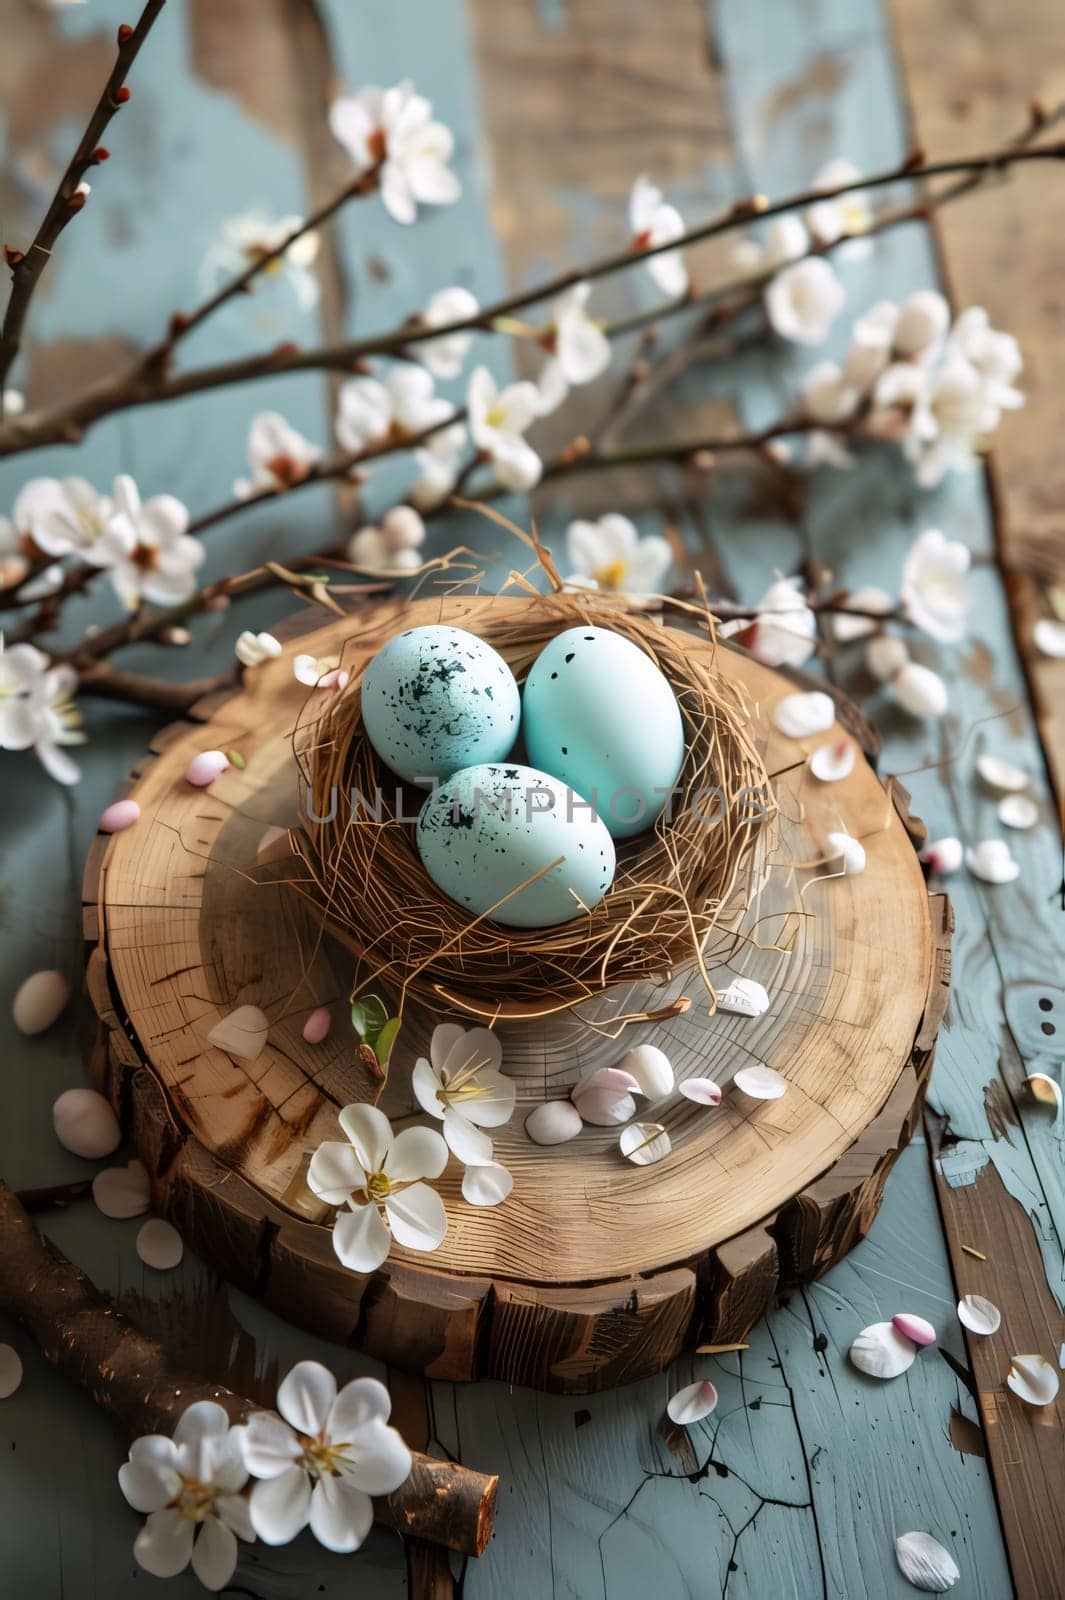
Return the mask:
<svg viewBox="0 0 1065 1600">
<path fill-rule="evenodd" d="M 640 264 L 648 258 L 660 254 L 665 250 L 683 250 L 684 246 L 720 237 L 721 234 L 728 234 L 737 227 L 745 227 L 753 221 L 764 221 L 774 216 L 784 216 L 788 211 L 806 210 L 819 202 L 833 200 L 856 190 L 883 189 L 903 181 L 918 182 L 956 174 L 963 174 L 966 182 L 972 182 L 975 186 L 983 182 L 987 178 L 999 176 L 1009 166 L 1020 162 L 1060 160 L 1065 160 L 1065 141 L 1044 146 L 1030 146 L 1027 142 L 1020 144 L 1014 141 L 1012 144 L 1006 144 L 996 150 L 980 155 L 955 157 L 943 162 L 923 162 L 907 157 L 907 160 L 888 168 L 886 171 L 856 178 L 844 184 L 835 184 L 830 189 L 808 189 L 801 194 L 788 195 L 776 202 L 766 200 L 764 195 L 755 195 L 747 200 L 739 200 L 729 211 L 689 229 L 676 240 L 662 245 L 651 245 L 649 248 L 640 251 L 633 248 L 616 251 L 609 256 L 603 256 L 600 261 L 585 262 L 579 267 L 569 267 L 531 290 L 523 290 L 494 301 L 491 306 L 483 307 L 472 317 L 456 318 L 454 322 L 443 323 L 432 330 L 417 331 L 408 318 L 405 323 L 389 330 L 387 333 L 369 334 L 363 339 L 352 339 L 307 350 L 301 350 L 297 347 L 294 349 L 293 346 L 281 346 L 280 349 L 267 350 L 253 357 L 243 357 L 233 362 L 224 362 L 216 366 L 193 368 L 189 373 L 178 373 L 165 378 L 165 381 L 149 386 L 147 390 L 141 390 L 136 386 L 131 387 L 128 374 L 125 373 L 109 376 L 66 406 L 58 406 L 46 413 L 26 413 L 18 419 L 8 421 L 0 427 L 0 456 L 14 454 L 22 450 L 34 450 L 48 443 L 77 442 L 83 435 L 85 429 L 101 416 L 109 416 L 131 406 L 178 400 L 184 395 L 251 382 L 253 379 L 278 376 L 281 373 L 321 368 L 357 371 L 358 363 L 366 357 L 403 354 L 413 336 L 441 339 L 454 333 L 493 331 L 494 323 L 501 318 L 510 317 L 513 312 L 534 306 L 539 301 L 552 299 L 564 290 L 572 288 L 576 283 L 608 277 L 614 272 L 625 270 L 633 264 Z M 924 205 L 913 208 L 911 214 L 924 214 L 929 203 L 932 202 L 927 200 Z M 903 218 L 897 218 L 897 221 L 902 219 Z M 835 248 L 835 245 L 825 246 L 825 251 L 828 248 Z M 764 275 L 755 280 L 744 280 L 747 291 L 752 291 L 752 288 L 758 285 L 764 286 Z M 713 291 L 715 298 L 721 293 L 724 293 L 724 290 Z M 680 312 L 686 309 L 688 304 L 689 302 L 684 299 L 676 301 L 672 307 L 659 309 L 654 317 L 660 318 L 668 310 Z M 617 325 L 616 330 L 608 331 L 632 331 L 635 326 L 644 325 L 646 320 L 648 317 L 641 314 L 641 320 L 636 322 L 628 318 L 627 322 Z"/>
</svg>

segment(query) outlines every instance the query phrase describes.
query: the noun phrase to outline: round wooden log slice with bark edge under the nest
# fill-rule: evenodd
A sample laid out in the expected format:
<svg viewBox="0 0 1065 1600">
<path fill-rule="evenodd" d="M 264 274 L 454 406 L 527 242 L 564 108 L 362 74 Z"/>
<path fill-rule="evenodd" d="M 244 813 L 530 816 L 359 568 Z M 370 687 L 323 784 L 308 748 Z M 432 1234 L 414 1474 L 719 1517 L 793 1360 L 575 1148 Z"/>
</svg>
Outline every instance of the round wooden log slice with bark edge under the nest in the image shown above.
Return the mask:
<svg viewBox="0 0 1065 1600">
<path fill-rule="evenodd" d="M 470 605 L 419 602 L 403 626 L 461 626 Z M 339 1136 L 339 1107 L 376 1091 L 347 1019 L 352 957 L 291 886 L 256 872 L 264 830 L 297 816 L 291 739 L 307 690 L 293 656 L 342 653 L 358 666 L 400 626 L 395 605 L 321 616 L 232 698 L 155 741 L 125 790 L 141 821 L 101 835 L 90 854 L 88 987 L 102 1024 L 90 1069 L 131 1130 L 157 1208 L 285 1317 L 430 1376 L 584 1392 L 659 1371 L 686 1347 L 742 1339 L 782 1285 L 827 1270 L 867 1232 L 916 1122 L 947 1003 L 950 912 L 945 896 L 926 893 L 905 792 L 881 784 L 868 750 L 844 781 L 819 784 L 804 754 L 844 731 L 862 741 L 859 714 L 840 702 L 832 734 L 796 744 L 769 720 L 795 683 L 718 646 L 716 666 L 745 685 L 768 770 L 780 774 L 779 834 L 736 958 L 769 990 L 768 1014 L 712 1016 L 697 978 L 676 973 L 656 995 L 688 994 L 689 1010 L 622 1038 L 609 1016 L 646 1003 L 648 986 L 596 1002 L 596 1029 L 572 1018 L 502 1024 L 518 1085 L 515 1117 L 494 1130 L 515 1178 L 510 1198 L 467 1205 L 453 1160 L 438 1182 L 443 1246 L 393 1248 L 361 1277 L 336 1259 L 333 1213 L 305 1184 L 313 1149 Z M 691 648 L 712 646 L 692 638 Z M 193 789 L 184 773 L 205 749 L 238 752 L 245 765 Z M 840 827 L 862 838 L 865 872 L 803 870 Z M 724 984 L 731 973 L 715 976 Z M 253 1062 L 206 1042 L 238 1005 L 261 1006 L 270 1022 Z M 312 1046 L 302 1024 L 318 1005 L 334 1008 L 334 1026 Z M 381 1101 L 393 1118 L 416 1110 L 409 1069 L 440 1019 L 405 1016 Z M 529 1142 L 532 1106 L 641 1040 L 667 1051 L 678 1080 L 724 1086 L 716 1109 L 680 1093 L 648 1109 L 668 1128 L 667 1160 L 625 1162 L 609 1128 L 548 1149 Z M 788 1080 L 782 1099 L 729 1088 L 758 1062 Z"/>
</svg>

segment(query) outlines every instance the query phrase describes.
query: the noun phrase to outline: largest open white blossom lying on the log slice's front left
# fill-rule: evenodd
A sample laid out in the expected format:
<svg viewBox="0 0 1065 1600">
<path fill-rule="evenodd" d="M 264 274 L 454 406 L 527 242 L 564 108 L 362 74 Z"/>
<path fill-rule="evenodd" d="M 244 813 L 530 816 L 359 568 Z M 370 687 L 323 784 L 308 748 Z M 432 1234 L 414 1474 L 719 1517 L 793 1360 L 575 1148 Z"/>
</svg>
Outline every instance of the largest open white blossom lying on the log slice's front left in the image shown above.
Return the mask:
<svg viewBox="0 0 1065 1600">
<path fill-rule="evenodd" d="M 448 1165 L 440 1134 L 432 1128 L 393 1134 L 376 1106 L 345 1106 L 341 1128 L 349 1142 L 320 1144 L 307 1184 L 326 1205 L 349 1208 L 333 1226 L 333 1248 L 344 1266 L 374 1272 L 393 1238 L 408 1250 L 437 1250 L 448 1232 L 448 1214 L 422 1179 L 440 1178 Z"/>
</svg>

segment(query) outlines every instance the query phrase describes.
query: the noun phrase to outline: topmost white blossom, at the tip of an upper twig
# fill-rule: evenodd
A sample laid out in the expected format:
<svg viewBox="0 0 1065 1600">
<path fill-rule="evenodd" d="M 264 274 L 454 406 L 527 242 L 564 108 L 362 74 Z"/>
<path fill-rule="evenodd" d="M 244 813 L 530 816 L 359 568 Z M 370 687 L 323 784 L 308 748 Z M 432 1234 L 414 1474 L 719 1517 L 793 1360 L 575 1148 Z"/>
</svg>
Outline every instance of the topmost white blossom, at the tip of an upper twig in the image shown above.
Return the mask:
<svg viewBox="0 0 1065 1600">
<path fill-rule="evenodd" d="M 381 166 L 381 198 L 397 222 L 413 222 L 419 205 L 454 205 L 462 194 L 448 166 L 454 138 L 432 112 L 413 83 L 369 86 L 329 107 L 329 128 L 357 171 Z"/>
</svg>

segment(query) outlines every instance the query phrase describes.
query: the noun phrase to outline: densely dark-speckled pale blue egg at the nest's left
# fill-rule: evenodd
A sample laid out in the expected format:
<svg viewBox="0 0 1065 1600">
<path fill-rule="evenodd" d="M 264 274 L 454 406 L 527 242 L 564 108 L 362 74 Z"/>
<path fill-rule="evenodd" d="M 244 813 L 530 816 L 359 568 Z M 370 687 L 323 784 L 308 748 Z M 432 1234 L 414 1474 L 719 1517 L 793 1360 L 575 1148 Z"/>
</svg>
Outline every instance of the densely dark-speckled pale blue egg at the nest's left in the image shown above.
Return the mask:
<svg viewBox="0 0 1065 1600">
<path fill-rule="evenodd" d="M 429 789 L 462 766 L 499 762 L 518 736 L 510 667 L 461 627 L 409 627 L 363 674 L 363 725 L 393 773 Z"/>
</svg>

